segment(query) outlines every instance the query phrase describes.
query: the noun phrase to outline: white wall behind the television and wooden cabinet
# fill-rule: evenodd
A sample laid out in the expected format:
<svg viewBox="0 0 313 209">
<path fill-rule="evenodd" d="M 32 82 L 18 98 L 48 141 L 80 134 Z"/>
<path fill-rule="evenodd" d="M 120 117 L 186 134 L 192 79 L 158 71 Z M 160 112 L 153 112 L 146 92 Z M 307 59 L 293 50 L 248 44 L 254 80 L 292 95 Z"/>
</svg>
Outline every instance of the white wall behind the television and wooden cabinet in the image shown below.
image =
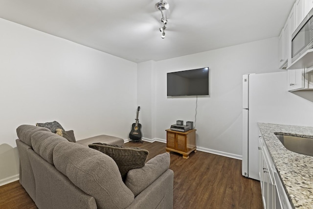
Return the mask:
<svg viewBox="0 0 313 209">
<path fill-rule="evenodd" d="M 278 70 L 277 60 L 278 38 L 270 38 L 153 63 L 155 116 L 151 120 L 155 121 L 152 129 L 155 133 L 151 134 L 152 139 L 165 141 L 165 130 L 176 120 L 181 119 L 184 124 L 195 121 L 196 96 L 167 97 L 166 73 L 209 67 L 210 95 L 198 96 L 197 147 L 240 159 L 242 75 L 282 71 Z M 138 85 L 142 80 L 138 79 Z M 144 96 L 138 93 L 138 100 Z"/>
</svg>

